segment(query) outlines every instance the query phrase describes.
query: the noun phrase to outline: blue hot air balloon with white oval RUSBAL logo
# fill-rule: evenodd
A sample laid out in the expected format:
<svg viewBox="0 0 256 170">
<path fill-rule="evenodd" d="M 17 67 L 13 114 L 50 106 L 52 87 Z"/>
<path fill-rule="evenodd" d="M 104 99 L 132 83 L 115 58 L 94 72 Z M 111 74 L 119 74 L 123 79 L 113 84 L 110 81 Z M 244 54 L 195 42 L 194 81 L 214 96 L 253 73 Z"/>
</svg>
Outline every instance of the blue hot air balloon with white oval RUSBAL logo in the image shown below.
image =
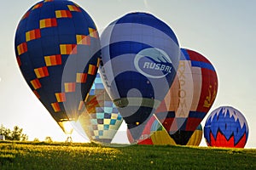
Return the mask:
<svg viewBox="0 0 256 170">
<path fill-rule="evenodd" d="M 104 86 L 132 136 L 139 139 L 176 75 L 177 37 L 154 15 L 137 12 L 107 26 L 101 43 Z"/>
</svg>

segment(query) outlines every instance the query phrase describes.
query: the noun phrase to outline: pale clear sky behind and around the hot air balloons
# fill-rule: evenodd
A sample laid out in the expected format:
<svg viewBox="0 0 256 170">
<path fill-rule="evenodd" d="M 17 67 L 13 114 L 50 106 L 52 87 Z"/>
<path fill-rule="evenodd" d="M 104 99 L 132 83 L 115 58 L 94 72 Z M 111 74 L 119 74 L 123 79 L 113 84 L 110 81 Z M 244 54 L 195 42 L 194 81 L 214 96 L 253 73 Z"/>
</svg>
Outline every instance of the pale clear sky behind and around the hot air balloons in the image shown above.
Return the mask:
<svg viewBox="0 0 256 170">
<path fill-rule="evenodd" d="M 0 124 L 22 127 L 30 140 L 66 139 L 61 128 L 27 86 L 15 59 L 15 30 L 34 0 L 5 1 L 0 10 Z M 175 32 L 180 47 L 207 57 L 218 74 L 218 94 L 211 111 L 230 105 L 247 119 L 246 148 L 256 147 L 256 1 L 232 0 L 73 0 L 90 14 L 99 31 L 135 11 L 154 14 Z M 15 3 L 15 5 L 13 5 Z M 204 123 L 207 119 L 201 122 Z M 120 132 L 125 131 L 125 123 Z M 113 141 L 119 142 L 121 137 Z M 87 142 L 79 133 L 74 141 Z M 204 139 L 201 146 L 206 146 Z"/>
</svg>

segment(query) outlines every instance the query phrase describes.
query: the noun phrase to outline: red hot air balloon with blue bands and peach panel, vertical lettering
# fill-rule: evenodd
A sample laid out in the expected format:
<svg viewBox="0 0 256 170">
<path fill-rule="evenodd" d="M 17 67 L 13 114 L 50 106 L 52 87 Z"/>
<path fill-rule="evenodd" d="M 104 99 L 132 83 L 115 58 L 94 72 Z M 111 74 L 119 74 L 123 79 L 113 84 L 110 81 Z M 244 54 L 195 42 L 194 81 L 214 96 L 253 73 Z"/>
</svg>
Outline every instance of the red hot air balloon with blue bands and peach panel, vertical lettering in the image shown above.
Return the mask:
<svg viewBox="0 0 256 170">
<path fill-rule="evenodd" d="M 177 77 L 155 116 L 176 144 L 185 145 L 212 107 L 218 77 L 206 57 L 190 49 L 182 48 L 181 51 Z"/>
</svg>

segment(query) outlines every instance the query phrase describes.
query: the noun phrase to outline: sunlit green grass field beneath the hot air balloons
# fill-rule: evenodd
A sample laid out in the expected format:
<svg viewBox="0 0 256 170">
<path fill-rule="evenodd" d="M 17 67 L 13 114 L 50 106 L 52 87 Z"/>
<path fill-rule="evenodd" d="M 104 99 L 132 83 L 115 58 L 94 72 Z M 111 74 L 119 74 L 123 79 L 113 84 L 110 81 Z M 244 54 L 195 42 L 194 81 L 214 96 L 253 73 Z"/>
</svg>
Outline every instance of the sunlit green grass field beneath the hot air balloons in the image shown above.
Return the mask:
<svg viewBox="0 0 256 170">
<path fill-rule="evenodd" d="M 0 169 L 256 169 L 253 149 L 116 146 L 3 141 Z"/>
</svg>

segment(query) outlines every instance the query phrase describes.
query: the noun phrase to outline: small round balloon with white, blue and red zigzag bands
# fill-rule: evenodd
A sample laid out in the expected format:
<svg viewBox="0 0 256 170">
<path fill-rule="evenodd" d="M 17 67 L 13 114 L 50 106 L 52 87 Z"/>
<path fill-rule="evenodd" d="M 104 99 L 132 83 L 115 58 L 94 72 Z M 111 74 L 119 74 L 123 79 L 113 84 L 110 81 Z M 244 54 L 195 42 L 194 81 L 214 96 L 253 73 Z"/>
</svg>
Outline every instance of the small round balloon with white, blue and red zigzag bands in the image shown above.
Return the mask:
<svg viewBox="0 0 256 170">
<path fill-rule="evenodd" d="M 246 118 L 231 106 L 212 111 L 204 127 L 208 146 L 243 148 L 248 139 Z"/>
</svg>

